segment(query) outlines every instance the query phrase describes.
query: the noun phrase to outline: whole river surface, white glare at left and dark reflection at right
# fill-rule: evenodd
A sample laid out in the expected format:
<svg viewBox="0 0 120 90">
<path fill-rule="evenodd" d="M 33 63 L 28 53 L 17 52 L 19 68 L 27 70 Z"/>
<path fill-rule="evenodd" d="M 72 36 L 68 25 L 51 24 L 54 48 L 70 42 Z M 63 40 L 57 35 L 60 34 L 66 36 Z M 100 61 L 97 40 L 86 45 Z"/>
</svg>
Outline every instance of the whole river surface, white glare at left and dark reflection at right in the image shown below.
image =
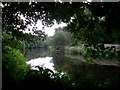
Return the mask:
<svg viewBox="0 0 120 90">
<path fill-rule="evenodd" d="M 49 49 L 31 49 L 26 57 L 32 69 L 43 66 L 54 72 L 64 72 L 74 77 L 76 82 L 95 81 L 99 86 L 120 85 L 120 67 L 114 65 L 99 65 L 84 62 L 80 56 L 52 53 Z"/>
</svg>

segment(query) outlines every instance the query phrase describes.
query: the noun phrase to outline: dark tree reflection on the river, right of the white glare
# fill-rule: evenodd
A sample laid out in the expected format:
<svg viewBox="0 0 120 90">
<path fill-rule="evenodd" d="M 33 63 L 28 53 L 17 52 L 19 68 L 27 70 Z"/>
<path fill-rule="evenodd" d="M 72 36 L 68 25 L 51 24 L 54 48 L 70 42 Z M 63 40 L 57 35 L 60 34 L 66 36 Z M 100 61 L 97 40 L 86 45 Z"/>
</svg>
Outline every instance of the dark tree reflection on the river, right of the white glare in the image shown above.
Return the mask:
<svg viewBox="0 0 120 90">
<path fill-rule="evenodd" d="M 50 64 L 50 60 L 48 61 Z M 89 64 L 81 58 L 72 58 L 61 52 L 52 53 L 52 64 L 55 71 L 66 73 L 71 78 L 70 82 L 72 82 L 73 87 L 119 88 L 120 67 Z"/>
</svg>

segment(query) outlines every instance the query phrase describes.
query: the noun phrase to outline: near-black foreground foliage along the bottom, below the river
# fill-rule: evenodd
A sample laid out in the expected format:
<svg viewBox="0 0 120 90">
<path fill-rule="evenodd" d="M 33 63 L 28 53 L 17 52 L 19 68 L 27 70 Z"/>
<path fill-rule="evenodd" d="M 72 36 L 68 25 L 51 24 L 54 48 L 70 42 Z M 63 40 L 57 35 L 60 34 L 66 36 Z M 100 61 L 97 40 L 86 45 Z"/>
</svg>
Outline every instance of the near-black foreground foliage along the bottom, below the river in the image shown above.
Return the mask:
<svg viewBox="0 0 120 90">
<path fill-rule="evenodd" d="M 110 77 L 106 77 L 106 79 L 102 80 L 99 80 L 98 78 L 96 81 L 94 76 L 87 76 L 86 73 L 89 73 L 89 71 L 86 71 L 86 69 L 78 70 L 77 74 L 75 74 L 74 77 L 71 77 L 66 74 L 61 75 L 61 73 L 58 72 L 55 73 L 49 69 L 44 69 L 43 67 L 37 66 L 37 68 L 39 68 L 39 70 L 29 70 L 27 72 L 26 78 L 21 82 L 20 89 L 98 89 L 118 87 L 117 85 L 119 84 L 115 78 L 110 80 Z M 116 78 L 119 79 L 119 77 Z M 116 82 L 117 85 L 112 82 Z"/>
</svg>

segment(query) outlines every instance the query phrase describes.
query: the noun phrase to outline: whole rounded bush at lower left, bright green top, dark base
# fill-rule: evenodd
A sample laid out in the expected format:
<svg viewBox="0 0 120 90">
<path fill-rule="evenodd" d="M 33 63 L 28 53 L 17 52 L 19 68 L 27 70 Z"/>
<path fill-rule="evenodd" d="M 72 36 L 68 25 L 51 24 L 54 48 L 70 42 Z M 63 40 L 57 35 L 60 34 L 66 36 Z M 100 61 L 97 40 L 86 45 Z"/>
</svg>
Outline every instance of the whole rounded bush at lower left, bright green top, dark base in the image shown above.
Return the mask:
<svg viewBox="0 0 120 90">
<path fill-rule="evenodd" d="M 19 50 L 9 46 L 3 47 L 3 89 L 13 88 L 24 79 L 28 70 L 26 58 Z"/>
</svg>

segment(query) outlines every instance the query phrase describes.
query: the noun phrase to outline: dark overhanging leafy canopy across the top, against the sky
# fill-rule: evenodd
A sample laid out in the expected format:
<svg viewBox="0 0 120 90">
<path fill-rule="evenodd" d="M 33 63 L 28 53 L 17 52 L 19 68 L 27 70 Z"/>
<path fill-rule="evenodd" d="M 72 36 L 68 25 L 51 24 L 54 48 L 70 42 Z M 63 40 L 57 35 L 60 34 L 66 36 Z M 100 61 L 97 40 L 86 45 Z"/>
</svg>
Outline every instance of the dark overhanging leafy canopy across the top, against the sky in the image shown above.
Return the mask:
<svg viewBox="0 0 120 90">
<path fill-rule="evenodd" d="M 82 40 L 92 44 L 120 43 L 120 3 L 3 2 L 2 4 L 4 6 L 2 28 L 12 32 L 16 38 L 21 37 L 21 31 L 26 30 L 28 25 L 36 24 L 40 19 L 43 25 L 48 27 L 52 26 L 54 21 L 67 23 L 68 31 L 74 34 L 77 42 Z M 21 19 L 20 15 L 26 20 Z M 35 30 L 36 28 L 33 28 L 33 31 Z"/>
</svg>

